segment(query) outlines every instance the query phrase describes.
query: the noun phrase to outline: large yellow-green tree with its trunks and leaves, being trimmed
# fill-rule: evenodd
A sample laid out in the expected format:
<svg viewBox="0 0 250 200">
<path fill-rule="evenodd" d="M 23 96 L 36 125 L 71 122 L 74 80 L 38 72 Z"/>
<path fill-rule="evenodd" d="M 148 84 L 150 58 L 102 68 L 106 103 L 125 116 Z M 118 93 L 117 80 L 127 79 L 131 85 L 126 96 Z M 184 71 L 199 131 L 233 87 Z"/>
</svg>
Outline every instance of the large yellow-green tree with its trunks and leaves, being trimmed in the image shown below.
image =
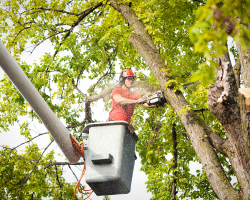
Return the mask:
<svg viewBox="0 0 250 200">
<path fill-rule="evenodd" d="M 137 107 L 133 117 L 152 199 L 250 198 L 249 115 L 244 97 L 238 95 L 241 85 L 249 87 L 247 1 L 5 0 L 2 4 L 0 32 L 7 35 L 5 45 L 75 136 L 95 121 L 91 102 L 104 98 L 109 108 L 107 94 L 114 87 L 117 66 L 136 70 L 136 88 L 144 88 L 142 92 L 159 87 L 164 91 L 168 102 L 164 108 Z M 231 49 L 237 59 L 234 66 L 226 47 L 228 36 L 237 43 L 237 50 Z M 32 66 L 21 61 L 23 51 L 32 53 L 46 40 L 53 44 L 54 54 L 42 55 Z M 88 94 L 78 88 L 86 78 L 97 79 Z M 7 78 L 1 88 L 3 130 L 18 116 L 37 118 Z M 79 104 L 77 109 L 71 108 L 74 103 Z M 85 118 L 78 119 L 84 111 Z M 30 139 L 25 125 L 23 130 Z M 12 151 L 5 147 L 1 152 Z M 173 157 L 166 160 L 169 153 Z M 191 174 L 190 161 L 200 162 L 203 170 Z M 230 182 L 233 177 L 235 183 Z M 12 190 L 17 188 L 4 188 L 2 196 L 13 197 Z"/>
</svg>

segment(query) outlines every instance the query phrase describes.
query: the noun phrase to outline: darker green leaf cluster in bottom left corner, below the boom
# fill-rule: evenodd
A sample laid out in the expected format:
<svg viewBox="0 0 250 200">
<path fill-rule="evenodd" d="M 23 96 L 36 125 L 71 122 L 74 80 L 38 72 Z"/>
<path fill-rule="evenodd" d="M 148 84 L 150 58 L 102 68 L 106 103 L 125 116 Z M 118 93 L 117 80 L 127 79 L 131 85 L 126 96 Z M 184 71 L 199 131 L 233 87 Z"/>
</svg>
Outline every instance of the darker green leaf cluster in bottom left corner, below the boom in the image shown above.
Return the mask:
<svg viewBox="0 0 250 200">
<path fill-rule="evenodd" d="M 26 146 L 21 154 L 16 149 L 4 147 L 0 155 L 1 199 L 13 198 L 32 170 L 33 173 L 28 182 L 23 185 L 22 192 L 17 194 L 16 199 L 42 199 L 42 197 L 74 199 L 74 185 L 65 182 L 62 169 L 59 167 L 44 169 L 47 164 L 54 161 L 53 151 L 47 153 L 35 168 L 33 165 L 41 155 L 36 144 Z"/>
</svg>

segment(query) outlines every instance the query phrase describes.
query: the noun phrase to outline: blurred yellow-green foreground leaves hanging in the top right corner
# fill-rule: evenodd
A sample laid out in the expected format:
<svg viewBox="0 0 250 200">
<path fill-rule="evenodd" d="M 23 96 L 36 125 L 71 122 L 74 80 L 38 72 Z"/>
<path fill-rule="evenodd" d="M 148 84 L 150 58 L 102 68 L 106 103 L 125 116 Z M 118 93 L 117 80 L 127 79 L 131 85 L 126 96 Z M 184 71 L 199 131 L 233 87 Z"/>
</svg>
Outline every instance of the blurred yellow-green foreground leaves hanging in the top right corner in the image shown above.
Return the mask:
<svg viewBox="0 0 250 200">
<path fill-rule="evenodd" d="M 249 2 L 246 0 L 208 0 L 197 9 L 197 22 L 189 31 L 190 38 L 195 42 L 194 51 L 203 53 L 206 62 L 200 66 L 193 80 L 202 76 L 206 77 L 202 80 L 204 85 L 211 83 L 214 68 L 217 67 L 213 59 L 228 51 L 225 44 L 229 36 L 245 50 L 249 47 L 250 31 L 245 26 L 250 22 L 249 9 Z"/>
</svg>

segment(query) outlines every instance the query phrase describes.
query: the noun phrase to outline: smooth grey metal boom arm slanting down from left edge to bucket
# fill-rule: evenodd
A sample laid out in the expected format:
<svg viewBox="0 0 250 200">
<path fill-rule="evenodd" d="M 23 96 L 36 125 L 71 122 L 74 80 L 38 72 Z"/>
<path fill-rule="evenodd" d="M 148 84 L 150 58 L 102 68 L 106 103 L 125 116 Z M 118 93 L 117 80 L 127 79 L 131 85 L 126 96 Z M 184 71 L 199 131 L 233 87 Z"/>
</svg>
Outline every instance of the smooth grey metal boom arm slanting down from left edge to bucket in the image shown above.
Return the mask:
<svg viewBox="0 0 250 200">
<path fill-rule="evenodd" d="M 77 162 L 80 159 L 80 155 L 70 140 L 69 131 L 52 112 L 1 41 L 0 66 L 42 120 L 69 162 Z"/>
</svg>

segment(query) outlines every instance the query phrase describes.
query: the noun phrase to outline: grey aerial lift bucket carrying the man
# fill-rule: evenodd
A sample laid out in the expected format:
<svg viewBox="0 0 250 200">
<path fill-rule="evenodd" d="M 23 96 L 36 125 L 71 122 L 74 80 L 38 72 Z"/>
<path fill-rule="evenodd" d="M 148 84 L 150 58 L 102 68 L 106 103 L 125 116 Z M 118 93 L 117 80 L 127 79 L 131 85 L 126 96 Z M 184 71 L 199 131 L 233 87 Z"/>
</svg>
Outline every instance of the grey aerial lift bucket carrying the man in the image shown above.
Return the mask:
<svg viewBox="0 0 250 200">
<path fill-rule="evenodd" d="M 98 196 L 129 193 L 138 140 L 131 124 L 124 121 L 88 124 L 83 133 L 83 140 L 88 138 L 86 183 Z"/>
</svg>

